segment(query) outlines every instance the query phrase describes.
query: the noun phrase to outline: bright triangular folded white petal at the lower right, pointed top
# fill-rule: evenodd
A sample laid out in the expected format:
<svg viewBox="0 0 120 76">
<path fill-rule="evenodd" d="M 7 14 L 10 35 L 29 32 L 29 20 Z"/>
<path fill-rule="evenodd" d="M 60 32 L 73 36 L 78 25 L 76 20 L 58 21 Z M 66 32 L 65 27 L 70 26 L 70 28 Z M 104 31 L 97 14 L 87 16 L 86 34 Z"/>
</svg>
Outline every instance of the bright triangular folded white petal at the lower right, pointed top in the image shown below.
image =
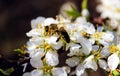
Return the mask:
<svg viewBox="0 0 120 76">
<path fill-rule="evenodd" d="M 84 64 L 85 68 L 91 68 L 94 71 L 96 71 L 97 68 L 98 68 L 97 64 L 96 64 L 96 62 L 94 60 L 94 56 L 93 55 L 91 55 L 88 58 L 86 58 L 85 61 L 83 62 L 83 64 Z"/>
</svg>

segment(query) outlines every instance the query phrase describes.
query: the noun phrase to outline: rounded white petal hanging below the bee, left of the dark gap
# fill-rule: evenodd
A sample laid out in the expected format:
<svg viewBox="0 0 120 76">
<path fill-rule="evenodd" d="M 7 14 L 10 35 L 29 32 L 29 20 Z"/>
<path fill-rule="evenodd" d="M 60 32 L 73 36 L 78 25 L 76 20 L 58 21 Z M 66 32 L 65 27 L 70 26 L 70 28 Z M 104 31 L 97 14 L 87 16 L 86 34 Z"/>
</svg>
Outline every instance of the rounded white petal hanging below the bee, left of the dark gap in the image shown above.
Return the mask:
<svg viewBox="0 0 120 76">
<path fill-rule="evenodd" d="M 51 66 L 56 66 L 59 63 L 58 54 L 55 51 L 48 51 L 45 58 L 46 63 Z"/>
</svg>

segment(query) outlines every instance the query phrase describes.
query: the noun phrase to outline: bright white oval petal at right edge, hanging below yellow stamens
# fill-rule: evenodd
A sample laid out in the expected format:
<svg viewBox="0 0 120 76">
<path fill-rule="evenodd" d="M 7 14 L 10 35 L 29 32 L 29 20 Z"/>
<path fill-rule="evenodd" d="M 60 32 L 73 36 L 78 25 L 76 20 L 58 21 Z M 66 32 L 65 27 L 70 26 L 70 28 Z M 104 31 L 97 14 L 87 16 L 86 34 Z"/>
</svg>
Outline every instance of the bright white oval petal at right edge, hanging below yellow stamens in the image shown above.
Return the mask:
<svg viewBox="0 0 120 76">
<path fill-rule="evenodd" d="M 108 57 L 108 66 L 111 70 L 115 70 L 119 64 L 119 57 L 117 54 L 112 54 Z"/>
</svg>

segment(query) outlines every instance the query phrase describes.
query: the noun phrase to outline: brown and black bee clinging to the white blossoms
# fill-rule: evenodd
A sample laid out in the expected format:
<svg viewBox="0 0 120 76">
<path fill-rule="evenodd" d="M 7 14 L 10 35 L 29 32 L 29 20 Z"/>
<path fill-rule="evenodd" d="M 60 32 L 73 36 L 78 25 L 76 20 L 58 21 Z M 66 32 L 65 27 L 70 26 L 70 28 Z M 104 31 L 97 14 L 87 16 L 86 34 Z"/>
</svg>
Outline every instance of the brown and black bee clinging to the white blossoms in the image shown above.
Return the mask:
<svg viewBox="0 0 120 76">
<path fill-rule="evenodd" d="M 60 38 L 63 38 L 67 43 L 70 42 L 70 37 L 66 32 L 66 30 L 63 27 L 58 28 L 57 24 L 51 24 L 50 26 L 45 26 L 45 34 L 47 36 L 58 34 L 60 35 L 60 37 L 57 39 L 57 41 L 59 41 Z"/>
</svg>

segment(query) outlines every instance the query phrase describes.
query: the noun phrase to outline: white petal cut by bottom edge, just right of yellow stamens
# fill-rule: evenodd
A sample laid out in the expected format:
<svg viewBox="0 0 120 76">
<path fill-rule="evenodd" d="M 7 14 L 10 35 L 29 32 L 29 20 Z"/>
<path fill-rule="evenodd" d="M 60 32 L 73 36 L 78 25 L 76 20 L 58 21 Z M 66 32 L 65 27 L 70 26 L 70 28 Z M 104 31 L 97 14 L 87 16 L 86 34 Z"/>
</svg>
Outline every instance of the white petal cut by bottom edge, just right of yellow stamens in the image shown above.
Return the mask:
<svg viewBox="0 0 120 76">
<path fill-rule="evenodd" d="M 54 76 L 67 76 L 67 72 L 65 71 L 64 68 L 53 68 L 52 74 Z"/>
</svg>

